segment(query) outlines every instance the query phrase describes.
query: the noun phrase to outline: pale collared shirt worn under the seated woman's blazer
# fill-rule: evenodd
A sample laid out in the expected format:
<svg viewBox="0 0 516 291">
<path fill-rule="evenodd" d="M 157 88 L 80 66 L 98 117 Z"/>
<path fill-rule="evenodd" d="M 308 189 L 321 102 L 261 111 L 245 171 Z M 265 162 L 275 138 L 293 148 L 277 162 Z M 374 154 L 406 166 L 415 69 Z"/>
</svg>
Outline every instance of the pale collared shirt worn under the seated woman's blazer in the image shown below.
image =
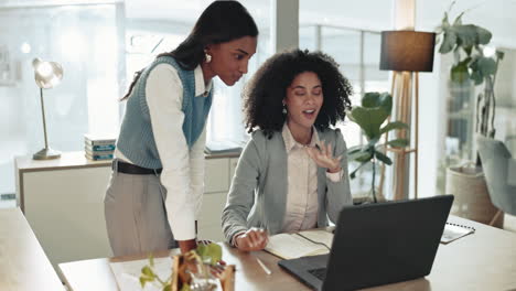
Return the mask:
<svg viewBox="0 0 516 291">
<path fill-rule="evenodd" d="M 318 226 L 318 165 L 308 155 L 307 146 L 294 140 L 287 123 L 281 132 L 287 150 L 287 205 L 281 233 L 292 233 Z M 320 144 L 315 128 L 309 147 Z M 326 172 L 326 177 L 338 182 L 342 171 L 338 173 Z"/>
</svg>

